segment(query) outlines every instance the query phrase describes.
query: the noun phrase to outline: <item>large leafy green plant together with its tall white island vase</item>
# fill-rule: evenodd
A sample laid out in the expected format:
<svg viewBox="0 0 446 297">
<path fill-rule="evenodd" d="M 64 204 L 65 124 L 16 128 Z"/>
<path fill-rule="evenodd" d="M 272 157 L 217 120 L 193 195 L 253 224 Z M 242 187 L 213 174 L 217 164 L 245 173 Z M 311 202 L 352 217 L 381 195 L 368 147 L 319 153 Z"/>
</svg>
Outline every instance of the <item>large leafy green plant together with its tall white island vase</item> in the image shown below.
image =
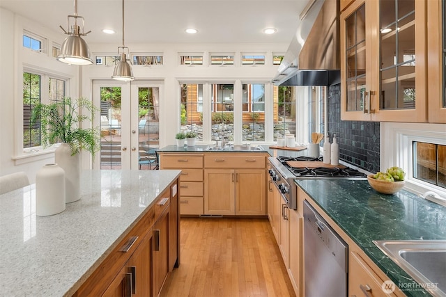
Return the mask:
<svg viewBox="0 0 446 297">
<path fill-rule="evenodd" d="M 84 113 L 82 113 L 84 111 Z M 93 122 L 98 111 L 88 99 L 70 97 L 49 104 L 36 104 L 31 113 L 31 125 L 40 122 L 41 144 L 48 147 L 60 143 L 54 152 L 55 163 L 65 170 L 66 202 L 80 198 L 80 156 L 86 150 L 94 157 L 100 150 L 99 127 L 81 128 L 82 122 Z"/>
</svg>

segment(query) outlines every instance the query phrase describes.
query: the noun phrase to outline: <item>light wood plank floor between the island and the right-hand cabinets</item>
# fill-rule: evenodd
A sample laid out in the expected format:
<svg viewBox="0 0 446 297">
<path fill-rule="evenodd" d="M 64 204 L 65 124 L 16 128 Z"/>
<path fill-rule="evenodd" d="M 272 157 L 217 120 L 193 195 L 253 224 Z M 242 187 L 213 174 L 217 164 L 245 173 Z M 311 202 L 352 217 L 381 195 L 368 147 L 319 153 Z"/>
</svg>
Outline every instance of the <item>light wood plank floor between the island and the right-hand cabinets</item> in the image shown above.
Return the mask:
<svg viewBox="0 0 446 297">
<path fill-rule="evenodd" d="M 162 297 L 295 296 L 267 218 L 181 218 Z"/>
</svg>

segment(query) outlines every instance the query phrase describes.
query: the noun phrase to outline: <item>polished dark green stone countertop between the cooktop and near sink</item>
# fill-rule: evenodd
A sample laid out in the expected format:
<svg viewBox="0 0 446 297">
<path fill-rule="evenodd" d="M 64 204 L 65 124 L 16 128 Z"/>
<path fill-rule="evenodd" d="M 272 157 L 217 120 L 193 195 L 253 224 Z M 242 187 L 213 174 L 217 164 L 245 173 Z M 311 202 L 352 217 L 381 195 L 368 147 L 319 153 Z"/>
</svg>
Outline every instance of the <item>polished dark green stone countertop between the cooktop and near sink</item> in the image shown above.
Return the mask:
<svg viewBox="0 0 446 297">
<path fill-rule="evenodd" d="M 325 213 L 407 296 L 431 296 L 377 248 L 373 240 L 446 239 L 446 207 L 408 191 L 377 193 L 367 180 L 296 179 Z M 406 289 L 404 289 L 406 288 Z M 409 289 L 407 289 L 409 288 Z"/>
</svg>

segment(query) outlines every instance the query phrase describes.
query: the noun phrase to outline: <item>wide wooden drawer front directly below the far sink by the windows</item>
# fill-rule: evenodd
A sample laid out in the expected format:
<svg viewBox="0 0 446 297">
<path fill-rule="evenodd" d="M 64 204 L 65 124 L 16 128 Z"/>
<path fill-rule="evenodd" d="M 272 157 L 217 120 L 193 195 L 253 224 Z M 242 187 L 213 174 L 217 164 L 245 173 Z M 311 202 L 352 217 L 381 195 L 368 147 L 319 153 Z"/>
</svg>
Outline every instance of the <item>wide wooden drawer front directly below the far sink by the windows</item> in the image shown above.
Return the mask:
<svg viewBox="0 0 446 297">
<path fill-rule="evenodd" d="M 232 153 L 233 154 L 233 153 Z M 245 154 L 231 156 L 230 154 L 209 154 L 204 156 L 206 168 L 265 168 L 266 157 L 261 155 Z"/>
</svg>

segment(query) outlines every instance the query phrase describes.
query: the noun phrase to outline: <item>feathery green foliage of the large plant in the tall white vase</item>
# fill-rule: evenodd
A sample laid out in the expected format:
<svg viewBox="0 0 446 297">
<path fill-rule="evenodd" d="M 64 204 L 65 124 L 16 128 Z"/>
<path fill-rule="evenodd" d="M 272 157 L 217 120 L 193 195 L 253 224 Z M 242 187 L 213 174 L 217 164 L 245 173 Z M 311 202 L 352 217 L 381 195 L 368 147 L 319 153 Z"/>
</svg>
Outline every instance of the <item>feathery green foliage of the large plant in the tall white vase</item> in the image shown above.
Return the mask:
<svg viewBox="0 0 446 297">
<path fill-rule="evenodd" d="M 82 110 L 86 113 L 81 113 Z M 54 103 L 39 103 L 33 106 L 31 125 L 40 122 L 43 147 L 58 142 L 68 143 L 72 155 L 86 150 L 94 157 L 100 150 L 100 129 L 82 129 L 79 124 L 93 122 L 94 113 L 98 110 L 85 98 L 72 100 L 66 97 Z"/>
</svg>

